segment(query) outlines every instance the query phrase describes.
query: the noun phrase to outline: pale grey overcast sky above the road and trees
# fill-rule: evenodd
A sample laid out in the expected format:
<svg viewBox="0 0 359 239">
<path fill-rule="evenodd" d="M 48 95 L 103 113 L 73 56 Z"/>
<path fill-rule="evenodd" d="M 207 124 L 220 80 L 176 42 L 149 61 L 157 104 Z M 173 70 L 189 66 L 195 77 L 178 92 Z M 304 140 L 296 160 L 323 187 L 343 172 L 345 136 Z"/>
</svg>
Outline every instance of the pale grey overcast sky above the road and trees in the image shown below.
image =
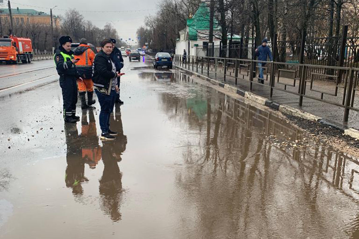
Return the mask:
<svg viewBox="0 0 359 239">
<path fill-rule="evenodd" d="M 84 0 L 10 0 L 11 8 L 25 8 L 44 11 L 50 14 L 50 8 L 54 15 L 64 15 L 65 9 L 74 8 L 80 11 L 85 19 L 91 20 L 98 27 L 103 27 L 106 22 L 112 23 L 117 29 L 119 37 L 123 39 L 134 39 L 136 30 L 144 25 L 146 15 L 155 14 L 157 3 L 160 0 L 106 0 L 106 1 L 84 1 Z M 0 8 L 7 7 L 7 0 L 0 3 Z M 95 5 L 96 3 L 96 5 Z M 133 10 L 139 10 L 131 12 Z M 129 11 L 121 13 L 89 13 L 81 11 Z"/>
</svg>

